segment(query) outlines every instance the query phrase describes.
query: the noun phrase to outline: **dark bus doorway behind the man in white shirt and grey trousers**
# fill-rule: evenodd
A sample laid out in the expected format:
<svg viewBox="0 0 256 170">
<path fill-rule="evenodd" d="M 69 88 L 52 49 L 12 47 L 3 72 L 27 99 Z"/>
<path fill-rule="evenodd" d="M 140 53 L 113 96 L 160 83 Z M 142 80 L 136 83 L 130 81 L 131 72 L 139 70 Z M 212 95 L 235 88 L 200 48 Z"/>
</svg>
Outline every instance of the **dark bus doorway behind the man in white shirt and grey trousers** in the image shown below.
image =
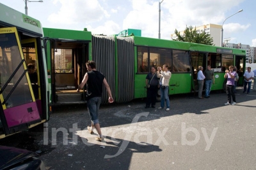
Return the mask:
<svg viewBox="0 0 256 170">
<path fill-rule="evenodd" d="M 206 55 L 202 52 L 191 52 L 191 84 L 192 84 L 192 91 L 198 91 L 198 84 L 197 84 L 197 72 L 199 67 L 203 66 L 204 70 L 206 69 Z"/>
</svg>

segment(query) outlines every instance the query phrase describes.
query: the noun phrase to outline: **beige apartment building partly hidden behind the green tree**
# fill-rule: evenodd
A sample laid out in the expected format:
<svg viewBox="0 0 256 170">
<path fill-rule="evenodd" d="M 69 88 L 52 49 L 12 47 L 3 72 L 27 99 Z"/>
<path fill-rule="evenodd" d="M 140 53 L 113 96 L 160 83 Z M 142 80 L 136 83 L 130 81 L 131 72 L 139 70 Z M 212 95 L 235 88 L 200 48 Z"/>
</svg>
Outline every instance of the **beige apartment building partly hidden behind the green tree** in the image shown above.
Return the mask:
<svg viewBox="0 0 256 170">
<path fill-rule="evenodd" d="M 193 29 L 195 29 L 195 27 L 193 27 Z M 211 35 L 212 40 L 213 40 L 213 44 L 215 46 L 221 46 L 220 42 L 221 42 L 221 25 L 217 25 L 217 24 L 207 24 L 204 26 L 198 26 L 196 27 L 196 31 L 197 33 L 203 33 L 203 31 L 205 31 L 205 33 Z M 184 31 L 180 31 L 180 35 L 184 35 Z M 175 40 L 177 38 L 177 36 L 175 35 L 175 33 L 173 33 L 171 35 L 172 40 Z"/>
</svg>

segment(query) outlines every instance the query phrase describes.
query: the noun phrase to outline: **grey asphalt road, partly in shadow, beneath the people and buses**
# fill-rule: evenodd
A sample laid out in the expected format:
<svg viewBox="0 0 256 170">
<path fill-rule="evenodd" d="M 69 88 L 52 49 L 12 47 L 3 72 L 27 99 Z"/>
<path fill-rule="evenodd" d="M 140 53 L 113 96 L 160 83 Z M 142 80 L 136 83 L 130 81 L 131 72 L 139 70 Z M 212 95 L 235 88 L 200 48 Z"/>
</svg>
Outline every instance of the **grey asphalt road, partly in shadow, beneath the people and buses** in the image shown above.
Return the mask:
<svg viewBox="0 0 256 170">
<path fill-rule="evenodd" d="M 36 151 L 51 170 L 256 169 L 256 91 L 237 92 L 236 105 L 224 105 L 225 93 L 171 96 L 170 111 L 145 109 L 143 100 L 102 105 L 103 143 L 86 129 L 86 105 L 61 105 L 44 132 L 0 144 Z"/>
</svg>

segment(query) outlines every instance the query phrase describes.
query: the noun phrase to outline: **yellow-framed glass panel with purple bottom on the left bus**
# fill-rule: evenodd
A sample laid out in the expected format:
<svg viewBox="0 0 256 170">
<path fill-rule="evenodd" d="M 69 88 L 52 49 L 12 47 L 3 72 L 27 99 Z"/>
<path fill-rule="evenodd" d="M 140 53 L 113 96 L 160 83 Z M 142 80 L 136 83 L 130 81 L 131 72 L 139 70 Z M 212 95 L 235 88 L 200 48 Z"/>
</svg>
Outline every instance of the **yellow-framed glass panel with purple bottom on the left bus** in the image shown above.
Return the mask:
<svg viewBox="0 0 256 170">
<path fill-rule="evenodd" d="M 0 137 L 41 121 L 15 27 L 0 28 Z"/>
</svg>

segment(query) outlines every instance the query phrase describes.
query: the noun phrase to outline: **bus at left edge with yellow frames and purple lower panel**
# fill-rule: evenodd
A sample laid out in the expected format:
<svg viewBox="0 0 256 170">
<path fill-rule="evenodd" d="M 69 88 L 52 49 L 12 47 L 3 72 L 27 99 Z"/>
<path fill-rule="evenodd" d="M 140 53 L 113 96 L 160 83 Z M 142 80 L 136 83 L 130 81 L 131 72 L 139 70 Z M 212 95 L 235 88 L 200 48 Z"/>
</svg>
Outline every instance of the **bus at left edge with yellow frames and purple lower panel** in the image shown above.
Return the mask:
<svg viewBox="0 0 256 170">
<path fill-rule="evenodd" d="M 1 139 L 49 120 L 51 108 L 40 22 L 1 3 L 0 9 Z"/>
</svg>

